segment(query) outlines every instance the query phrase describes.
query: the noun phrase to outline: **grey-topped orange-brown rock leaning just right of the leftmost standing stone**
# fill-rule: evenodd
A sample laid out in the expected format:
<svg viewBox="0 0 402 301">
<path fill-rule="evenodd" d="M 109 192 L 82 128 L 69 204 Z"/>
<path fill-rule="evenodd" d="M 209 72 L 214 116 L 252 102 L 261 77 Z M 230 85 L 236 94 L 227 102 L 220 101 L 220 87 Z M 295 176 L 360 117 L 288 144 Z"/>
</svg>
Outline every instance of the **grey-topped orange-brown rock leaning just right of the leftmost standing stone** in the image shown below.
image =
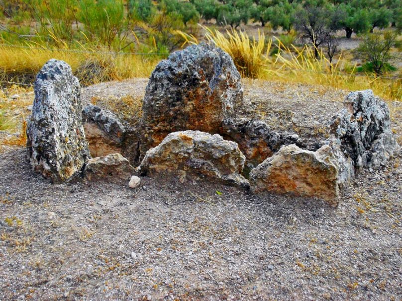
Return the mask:
<svg viewBox="0 0 402 301">
<path fill-rule="evenodd" d="M 83 110 L 83 123 L 93 157 L 121 153 L 126 129 L 116 115 L 89 104 Z"/>
</svg>

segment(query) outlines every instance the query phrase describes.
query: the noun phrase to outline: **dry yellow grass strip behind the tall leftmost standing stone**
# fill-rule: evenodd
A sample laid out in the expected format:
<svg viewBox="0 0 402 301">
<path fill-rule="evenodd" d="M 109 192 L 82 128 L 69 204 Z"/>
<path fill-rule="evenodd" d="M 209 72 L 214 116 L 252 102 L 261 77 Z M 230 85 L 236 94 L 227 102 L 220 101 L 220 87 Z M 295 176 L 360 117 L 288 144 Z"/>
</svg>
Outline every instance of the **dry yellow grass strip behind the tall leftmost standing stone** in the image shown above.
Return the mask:
<svg viewBox="0 0 402 301">
<path fill-rule="evenodd" d="M 115 54 L 105 50 L 47 49 L 35 45 L 0 46 L 0 80 L 32 81 L 50 59 L 67 62 L 82 85 L 104 80 L 147 77 L 161 60 L 154 55 Z"/>
</svg>

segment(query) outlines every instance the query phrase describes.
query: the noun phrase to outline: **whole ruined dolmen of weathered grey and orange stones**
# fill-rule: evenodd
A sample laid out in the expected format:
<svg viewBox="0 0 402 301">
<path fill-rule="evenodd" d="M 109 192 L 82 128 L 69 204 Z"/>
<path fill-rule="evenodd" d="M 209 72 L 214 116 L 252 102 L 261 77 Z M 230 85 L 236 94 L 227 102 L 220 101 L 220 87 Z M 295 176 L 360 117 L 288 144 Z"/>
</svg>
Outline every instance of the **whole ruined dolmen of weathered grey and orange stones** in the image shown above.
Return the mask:
<svg viewBox="0 0 402 301">
<path fill-rule="evenodd" d="M 371 90 L 346 97 L 330 136 L 314 142 L 314 150 L 298 135 L 238 118 L 242 103 L 233 60 L 205 43 L 156 66 L 136 128 L 95 105 L 83 107 L 71 68 L 50 60 L 35 80 L 30 163 L 55 183 L 80 178 L 139 187 L 141 176 L 185 183 L 200 175 L 254 194 L 317 198 L 336 207 L 340 189 L 360 168 L 383 166 L 401 150 L 388 106 Z"/>
</svg>

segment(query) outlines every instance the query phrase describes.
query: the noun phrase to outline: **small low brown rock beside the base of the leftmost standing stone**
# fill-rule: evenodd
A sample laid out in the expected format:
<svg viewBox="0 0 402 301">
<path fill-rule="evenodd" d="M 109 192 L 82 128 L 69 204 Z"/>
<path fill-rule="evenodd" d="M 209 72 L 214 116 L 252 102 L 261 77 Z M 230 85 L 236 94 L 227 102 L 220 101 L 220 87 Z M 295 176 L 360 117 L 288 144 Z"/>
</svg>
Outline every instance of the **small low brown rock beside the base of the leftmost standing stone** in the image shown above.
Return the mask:
<svg viewBox="0 0 402 301">
<path fill-rule="evenodd" d="M 84 168 L 84 177 L 88 181 L 106 181 L 127 185 L 134 167 L 119 153 L 90 159 Z"/>
</svg>

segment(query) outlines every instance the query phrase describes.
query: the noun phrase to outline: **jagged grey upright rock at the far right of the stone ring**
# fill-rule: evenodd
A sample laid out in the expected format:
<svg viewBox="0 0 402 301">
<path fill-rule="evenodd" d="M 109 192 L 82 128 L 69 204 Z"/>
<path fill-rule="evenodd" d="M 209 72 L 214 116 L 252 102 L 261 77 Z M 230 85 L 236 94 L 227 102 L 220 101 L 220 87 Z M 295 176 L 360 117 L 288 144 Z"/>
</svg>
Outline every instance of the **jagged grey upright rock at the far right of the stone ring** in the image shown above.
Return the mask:
<svg viewBox="0 0 402 301">
<path fill-rule="evenodd" d="M 391 132 L 388 106 L 373 91 L 351 92 L 344 105 L 331 131 L 355 167 L 379 167 L 400 150 Z"/>
</svg>

